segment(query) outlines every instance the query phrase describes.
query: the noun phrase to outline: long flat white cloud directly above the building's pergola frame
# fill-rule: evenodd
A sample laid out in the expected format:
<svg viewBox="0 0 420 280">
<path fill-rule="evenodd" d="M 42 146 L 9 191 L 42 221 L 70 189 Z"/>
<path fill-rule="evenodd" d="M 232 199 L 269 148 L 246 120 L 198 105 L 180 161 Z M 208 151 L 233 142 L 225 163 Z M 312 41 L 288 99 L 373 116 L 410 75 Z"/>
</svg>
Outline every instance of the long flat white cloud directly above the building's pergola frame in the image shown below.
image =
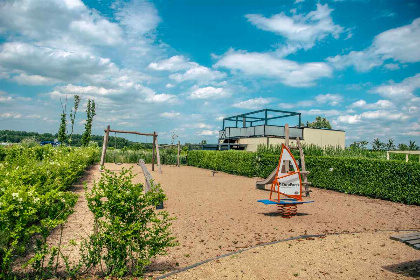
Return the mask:
<svg viewBox="0 0 420 280">
<path fill-rule="evenodd" d="M 332 76 L 331 67 L 323 62 L 297 63 L 287 59 L 279 59 L 269 53 L 247 53 L 229 51 L 215 64 L 240 70 L 249 76 L 279 79 L 285 85 L 293 87 L 310 87 L 315 81 Z"/>
</svg>

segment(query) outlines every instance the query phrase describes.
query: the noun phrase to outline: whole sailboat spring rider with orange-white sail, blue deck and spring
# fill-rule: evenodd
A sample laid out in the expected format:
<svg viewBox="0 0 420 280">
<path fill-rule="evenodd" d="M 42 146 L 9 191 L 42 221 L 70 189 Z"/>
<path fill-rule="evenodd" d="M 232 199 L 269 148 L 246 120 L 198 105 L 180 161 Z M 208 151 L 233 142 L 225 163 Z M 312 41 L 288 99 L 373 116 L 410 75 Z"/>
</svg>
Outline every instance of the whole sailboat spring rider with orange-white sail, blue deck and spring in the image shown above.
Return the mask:
<svg viewBox="0 0 420 280">
<path fill-rule="evenodd" d="M 271 182 L 270 198 L 258 200 L 258 202 L 277 205 L 280 215 L 285 218 L 296 215 L 297 205 L 313 202 L 304 201 L 302 198 L 302 193 L 308 194 L 308 190 L 307 188 L 305 190 L 302 189 L 301 173 L 305 174 L 306 182 L 306 174 L 308 172 L 299 170 L 298 164 L 289 148 L 282 144 L 279 164 L 276 172 L 274 173 L 273 171 L 271 175 L 273 180 Z"/>
</svg>

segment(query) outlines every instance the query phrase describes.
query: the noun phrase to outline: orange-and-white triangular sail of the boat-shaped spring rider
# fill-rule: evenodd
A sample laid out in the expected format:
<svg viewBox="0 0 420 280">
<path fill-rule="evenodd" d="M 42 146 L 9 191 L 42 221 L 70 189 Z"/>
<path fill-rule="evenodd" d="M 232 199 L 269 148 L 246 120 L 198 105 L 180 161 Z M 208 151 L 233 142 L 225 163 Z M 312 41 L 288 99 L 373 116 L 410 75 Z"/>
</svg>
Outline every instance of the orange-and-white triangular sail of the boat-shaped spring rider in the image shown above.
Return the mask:
<svg viewBox="0 0 420 280">
<path fill-rule="evenodd" d="M 271 185 L 270 200 L 280 201 L 280 195 L 302 200 L 300 170 L 292 153 L 284 144 L 281 148 L 276 178 Z"/>
</svg>

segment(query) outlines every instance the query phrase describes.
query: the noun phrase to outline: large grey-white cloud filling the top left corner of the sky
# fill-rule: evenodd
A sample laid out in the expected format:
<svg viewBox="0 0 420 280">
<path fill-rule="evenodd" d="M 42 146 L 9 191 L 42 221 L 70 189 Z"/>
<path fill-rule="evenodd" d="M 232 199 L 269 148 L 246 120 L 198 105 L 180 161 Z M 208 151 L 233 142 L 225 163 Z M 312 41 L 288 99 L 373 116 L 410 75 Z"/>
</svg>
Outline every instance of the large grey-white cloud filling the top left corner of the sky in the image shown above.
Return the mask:
<svg viewBox="0 0 420 280">
<path fill-rule="evenodd" d="M 0 26 L 50 46 L 115 45 L 122 31 L 113 22 L 89 10 L 82 1 L 4 1 Z"/>
</svg>

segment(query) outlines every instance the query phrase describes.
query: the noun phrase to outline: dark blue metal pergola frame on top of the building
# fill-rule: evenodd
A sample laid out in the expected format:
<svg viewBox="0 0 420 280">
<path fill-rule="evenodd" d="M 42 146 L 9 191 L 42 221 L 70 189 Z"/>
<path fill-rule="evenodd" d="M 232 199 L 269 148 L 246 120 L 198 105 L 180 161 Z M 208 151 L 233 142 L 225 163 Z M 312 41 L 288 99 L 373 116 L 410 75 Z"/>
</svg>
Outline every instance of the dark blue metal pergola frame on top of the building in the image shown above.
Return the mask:
<svg viewBox="0 0 420 280">
<path fill-rule="evenodd" d="M 257 117 L 257 116 L 252 116 L 252 115 L 256 115 L 259 113 L 264 112 L 264 117 Z M 268 117 L 268 113 L 280 113 L 282 115 L 279 116 L 274 116 L 274 117 Z M 240 114 L 240 115 L 236 115 L 236 116 L 230 116 L 230 117 L 226 117 L 223 118 L 223 129 L 225 130 L 225 121 L 233 121 L 235 122 L 235 127 L 238 127 L 238 122 L 242 121 L 243 127 L 247 127 L 246 124 L 250 123 L 250 126 L 253 126 L 253 123 L 255 122 L 264 122 L 264 125 L 268 125 L 268 121 L 270 120 L 275 120 L 275 119 L 280 119 L 280 118 L 287 118 L 287 117 L 293 117 L 293 116 L 298 116 L 299 117 L 299 123 L 298 123 L 298 127 L 300 128 L 300 124 L 301 124 L 301 113 L 298 112 L 290 112 L 290 111 L 282 111 L 282 110 L 273 110 L 273 109 L 262 109 L 262 110 L 258 110 L 258 111 L 253 111 L 253 112 L 249 112 L 249 113 L 244 113 L 244 114 Z M 250 120 L 247 120 L 250 119 Z"/>
</svg>

